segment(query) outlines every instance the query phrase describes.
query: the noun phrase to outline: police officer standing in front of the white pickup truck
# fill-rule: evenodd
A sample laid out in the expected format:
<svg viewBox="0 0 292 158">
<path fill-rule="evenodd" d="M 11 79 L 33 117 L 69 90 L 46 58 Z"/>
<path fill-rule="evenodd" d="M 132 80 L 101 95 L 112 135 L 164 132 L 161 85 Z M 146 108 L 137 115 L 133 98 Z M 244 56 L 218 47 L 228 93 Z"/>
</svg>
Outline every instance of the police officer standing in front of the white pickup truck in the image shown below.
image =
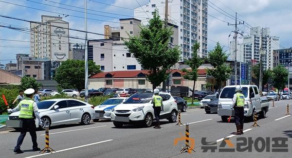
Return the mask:
<svg viewBox="0 0 292 158">
<path fill-rule="evenodd" d="M 241 135 L 243 134 L 243 121 L 244 121 L 244 95 L 242 94 L 242 87 L 237 85 L 235 87 L 235 94 L 233 96 L 233 104 L 232 107 L 234 108 L 234 118 L 235 118 L 235 125 L 236 125 L 236 132 L 232 134 Z"/>
</svg>

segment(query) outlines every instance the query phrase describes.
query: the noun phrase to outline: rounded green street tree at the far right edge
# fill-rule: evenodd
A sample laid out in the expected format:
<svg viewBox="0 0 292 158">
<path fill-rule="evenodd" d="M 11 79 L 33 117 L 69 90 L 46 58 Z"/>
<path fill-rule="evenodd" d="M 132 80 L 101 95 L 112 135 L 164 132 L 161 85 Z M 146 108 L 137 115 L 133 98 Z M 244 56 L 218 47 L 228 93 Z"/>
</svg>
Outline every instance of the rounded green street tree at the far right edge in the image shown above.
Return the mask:
<svg viewBox="0 0 292 158">
<path fill-rule="evenodd" d="M 288 81 L 288 70 L 282 65 L 277 65 L 273 69 L 272 80 L 274 88 L 279 90 L 285 88 L 285 84 Z"/>
</svg>

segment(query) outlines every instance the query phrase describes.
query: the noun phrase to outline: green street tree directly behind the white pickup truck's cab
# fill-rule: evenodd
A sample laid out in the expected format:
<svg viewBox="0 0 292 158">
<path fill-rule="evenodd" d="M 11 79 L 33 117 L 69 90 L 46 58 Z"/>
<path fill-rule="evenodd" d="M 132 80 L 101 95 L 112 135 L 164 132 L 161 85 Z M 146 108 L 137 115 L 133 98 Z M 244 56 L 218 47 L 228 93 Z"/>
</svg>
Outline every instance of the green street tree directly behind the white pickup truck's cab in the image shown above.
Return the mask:
<svg viewBox="0 0 292 158">
<path fill-rule="evenodd" d="M 221 90 L 221 83 L 225 82 L 230 77 L 231 68 L 226 65 L 228 55 L 223 52 L 223 48 L 217 42 L 215 48 L 209 52 L 208 62 L 213 66 L 213 69 L 206 69 L 207 74 L 213 76 L 216 80 L 216 86 Z"/>
</svg>

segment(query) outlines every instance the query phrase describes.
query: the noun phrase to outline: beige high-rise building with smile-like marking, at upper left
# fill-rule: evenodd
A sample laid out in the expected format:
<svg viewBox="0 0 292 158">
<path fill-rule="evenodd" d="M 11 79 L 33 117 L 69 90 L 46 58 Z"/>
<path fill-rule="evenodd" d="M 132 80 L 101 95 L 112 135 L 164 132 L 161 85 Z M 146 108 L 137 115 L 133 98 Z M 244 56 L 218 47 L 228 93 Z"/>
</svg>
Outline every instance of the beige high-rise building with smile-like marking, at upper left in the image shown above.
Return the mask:
<svg viewBox="0 0 292 158">
<path fill-rule="evenodd" d="M 41 22 L 31 22 L 31 53 L 35 58 L 52 62 L 69 58 L 69 22 L 62 17 L 41 16 Z"/>
</svg>

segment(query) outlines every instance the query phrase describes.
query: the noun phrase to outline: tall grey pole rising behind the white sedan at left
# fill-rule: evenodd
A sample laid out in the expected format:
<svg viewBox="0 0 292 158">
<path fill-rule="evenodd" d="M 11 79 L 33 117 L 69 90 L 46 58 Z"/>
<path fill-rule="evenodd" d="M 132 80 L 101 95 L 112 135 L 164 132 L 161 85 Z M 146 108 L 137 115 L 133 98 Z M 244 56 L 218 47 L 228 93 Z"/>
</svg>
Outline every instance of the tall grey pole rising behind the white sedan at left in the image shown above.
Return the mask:
<svg viewBox="0 0 292 158">
<path fill-rule="evenodd" d="M 85 5 L 85 46 L 84 46 L 84 55 L 85 55 L 85 102 L 88 103 L 88 53 L 87 53 L 87 0 L 84 0 Z"/>
</svg>

